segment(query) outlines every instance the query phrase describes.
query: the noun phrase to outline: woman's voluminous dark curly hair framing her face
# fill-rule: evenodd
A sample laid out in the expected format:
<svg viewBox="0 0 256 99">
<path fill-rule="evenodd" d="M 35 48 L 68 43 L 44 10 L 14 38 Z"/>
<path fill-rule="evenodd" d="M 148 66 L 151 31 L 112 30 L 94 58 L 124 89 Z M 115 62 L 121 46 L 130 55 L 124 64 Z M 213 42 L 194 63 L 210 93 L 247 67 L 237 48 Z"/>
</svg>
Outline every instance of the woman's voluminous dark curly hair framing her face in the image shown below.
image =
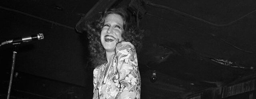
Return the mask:
<svg viewBox="0 0 256 99">
<path fill-rule="evenodd" d="M 87 38 L 89 40 L 90 61 L 92 62 L 93 67 L 101 65 L 107 61 L 105 49 L 100 41 L 100 33 L 108 14 L 118 14 L 122 16 L 124 20 L 122 38 L 125 42 L 132 43 L 137 52 L 142 48 L 142 38 L 144 36 L 143 30 L 140 30 L 137 27 L 136 19 L 131 16 L 128 10 L 124 8 L 107 9 L 101 14 L 98 20 L 88 20 L 85 23 Z"/>
</svg>

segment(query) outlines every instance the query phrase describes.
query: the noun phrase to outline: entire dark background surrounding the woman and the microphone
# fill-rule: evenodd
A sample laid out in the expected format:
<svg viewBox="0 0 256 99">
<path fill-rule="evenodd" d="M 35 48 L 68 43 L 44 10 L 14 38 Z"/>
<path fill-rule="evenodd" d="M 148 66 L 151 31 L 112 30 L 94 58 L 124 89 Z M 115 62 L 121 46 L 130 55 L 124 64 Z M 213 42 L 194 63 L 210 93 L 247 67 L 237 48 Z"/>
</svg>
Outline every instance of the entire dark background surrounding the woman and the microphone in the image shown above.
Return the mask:
<svg viewBox="0 0 256 99">
<path fill-rule="evenodd" d="M 221 99 L 226 90 L 230 92 L 228 87 L 246 81 L 252 81 L 250 90 L 234 89 L 236 94 L 223 98 L 255 97 L 254 0 L 139 3 L 146 11 L 137 20 L 145 33 L 143 49 L 138 53 L 142 99 Z M 93 68 L 87 68 L 86 32 L 79 33 L 82 24 L 77 23 L 110 6 L 138 11 L 134 7 L 137 4 L 138 0 L 0 1 L 0 42 L 44 34 L 44 40 L 19 46 L 12 98 L 90 99 Z M 1 97 L 7 94 L 13 47 L 0 47 Z M 154 70 L 157 80 L 153 83 Z"/>
</svg>

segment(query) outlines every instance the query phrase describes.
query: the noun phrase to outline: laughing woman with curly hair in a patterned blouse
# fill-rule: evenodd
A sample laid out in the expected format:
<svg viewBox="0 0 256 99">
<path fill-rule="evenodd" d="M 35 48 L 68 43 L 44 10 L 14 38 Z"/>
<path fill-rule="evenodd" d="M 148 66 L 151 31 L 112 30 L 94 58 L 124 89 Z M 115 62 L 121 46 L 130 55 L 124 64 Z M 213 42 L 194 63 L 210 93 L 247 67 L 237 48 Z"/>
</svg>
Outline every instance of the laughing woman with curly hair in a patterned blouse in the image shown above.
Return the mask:
<svg viewBox="0 0 256 99">
<path fill-rule="evenodd" d="M 110 8 L 99 20 L 87 22 L 86 30 L 95 67 L 93 99 L 140 99 L 135 48 L 141 48 L 142 31 L 136 21 L 124 8 Z"/>
</svg>

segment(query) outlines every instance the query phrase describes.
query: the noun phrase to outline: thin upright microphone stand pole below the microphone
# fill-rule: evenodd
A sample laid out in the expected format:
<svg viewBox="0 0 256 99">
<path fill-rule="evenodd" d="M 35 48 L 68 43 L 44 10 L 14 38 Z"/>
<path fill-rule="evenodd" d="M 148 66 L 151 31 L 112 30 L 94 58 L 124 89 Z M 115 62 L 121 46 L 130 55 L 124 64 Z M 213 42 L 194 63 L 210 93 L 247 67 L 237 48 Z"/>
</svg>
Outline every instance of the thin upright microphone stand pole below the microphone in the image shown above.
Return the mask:
<svg viewBox="0 0 256 99">
<path fill-rule="evenodd" d="M 11 75 L 10 75 L 10 82 L 9 82 L 9 87 L 8 87 L 7 99 L 10 98 L 10 92 L 11 92 L 11 87 L 12 87 L 12 77 L 13 77 L 13 72 L 14 72 L 15 59 L 16 59 L 16 54 L 17 54 L 18 46 L 20 45 L 20 43 L 16 43 L 16 44 L 13 44 L 13 45 L 14 45 L 14 51 L 13 51 L 13 54 L 12 54 L 12 69 L 11 69 Z"/>
</svg>

